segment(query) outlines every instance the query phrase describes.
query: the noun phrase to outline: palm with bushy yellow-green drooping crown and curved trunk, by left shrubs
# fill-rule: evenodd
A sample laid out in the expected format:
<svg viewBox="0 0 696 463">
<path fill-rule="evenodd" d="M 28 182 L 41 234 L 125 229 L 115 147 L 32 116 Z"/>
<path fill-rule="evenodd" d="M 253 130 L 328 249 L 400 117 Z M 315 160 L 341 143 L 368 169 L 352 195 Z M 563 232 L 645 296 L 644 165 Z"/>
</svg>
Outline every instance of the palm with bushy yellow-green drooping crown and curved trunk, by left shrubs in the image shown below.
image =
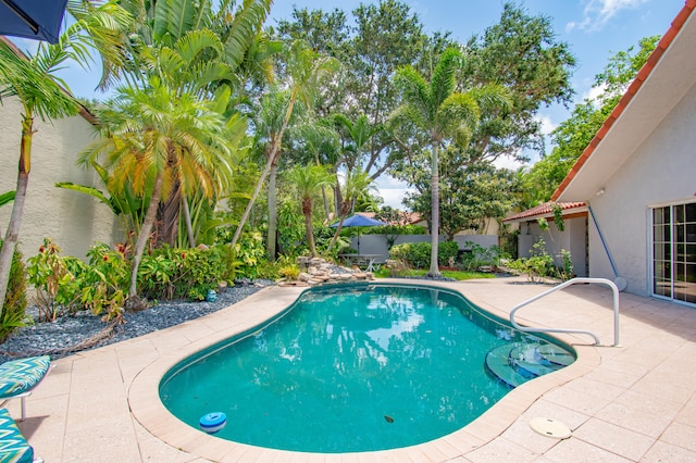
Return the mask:
<svg viewBox="0 0 696 463">
<path fill-rule="evenodd" d="M 112 187 L 128 183 L 149 197 L 130 270 L 127 309 L 142 308 L 137 296 L 137 276 L 150 237 L 158 205 L 177 182 L 185 193 L 198 191 L 206 198 L 227 187 L 231 178 L 229 139 L 239 139 L 246 124 L 240 117 L 226 122 L 213 111 L 213 103 L 177 91 L 150 77 L 147 88 L 122 87 L 110 109 L 99 113 L 102 138 L 80 154 L 91 163 L 107 154 L 104 166 L 113 173 Z M 231 137 L 231 133 L 235 135 Z"/>
</svg>

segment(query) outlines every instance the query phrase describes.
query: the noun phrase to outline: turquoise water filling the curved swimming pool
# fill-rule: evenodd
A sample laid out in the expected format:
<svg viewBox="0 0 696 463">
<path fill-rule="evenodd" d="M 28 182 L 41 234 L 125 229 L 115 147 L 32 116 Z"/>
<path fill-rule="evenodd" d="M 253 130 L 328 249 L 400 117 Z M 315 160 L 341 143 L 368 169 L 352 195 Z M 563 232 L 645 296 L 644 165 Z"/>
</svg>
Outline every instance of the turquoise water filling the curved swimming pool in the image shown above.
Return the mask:
<svg viewBox="0 0 696 463">
<path fill-rule="evenodd" d="M 307 452 L 383 450 L 428 441 L 480 416 L 510 388 L 486 354 L 538 338 L 457 293 L 401 285 L 313 289 L 268 326 L 179 363 L 164 405 L 215 436 Z"/>
</svg>

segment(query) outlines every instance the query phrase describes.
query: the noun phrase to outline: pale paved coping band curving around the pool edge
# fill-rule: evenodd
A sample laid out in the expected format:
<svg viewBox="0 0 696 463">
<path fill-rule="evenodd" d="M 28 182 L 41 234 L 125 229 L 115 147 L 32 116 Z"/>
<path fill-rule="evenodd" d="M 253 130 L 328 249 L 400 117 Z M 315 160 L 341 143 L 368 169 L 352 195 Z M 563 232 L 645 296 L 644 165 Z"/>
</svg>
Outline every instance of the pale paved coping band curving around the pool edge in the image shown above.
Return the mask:
<svg viewBox="0 0 696 463">
<path fill-rule="evenodd" d="M 446 288 L 461 295 L 495 316 L 509 318 L 507 312 L 485 301 L 476 300 L 462 293 L 461 288 L 456 283 L 405 281 L 402 279 L 380 279 L 376 283 L 415 284 Z M 420 454 L 423 459 L 431 461 L 445 461 L 464 455 L 500 436 L 545 392 L 592 372 L 600 363 L 597 348 L 589 345 L 586 339 L 572 335 L 557 334 L 554 338 L 575 349 L 577 360 L 573 364 L 517 387 L 474 422 L 455 433 L 428 442 L 391 450 L 352 453 L 309 453 L 260 448 L 206 434 L 181 422 L 166 410 L 159 397 L 159 384 L 170 368 L 196 352 L 270 320 L 275 314 L 287 309 L 307 289 L 288 287 L 264 288 L 237 304 L 203 317 L 208 324 L 217 327 L 214 333 L 194 341 L 182 337 L 174 350 L 159 356 L 135 376 L 127 392 L 128 406 L 135 420 L 150 434 L 170 446 L 186 451 L 191 455 L 212 461 L 238 461 L 240 459 L 324 461 L 336 456 L 339 456 L 341 461 L 360 461 L 364 458 L 405 461 L 410 460 L 413 454 Z M 518 317 L 518 321 L 522 325 L 530 324 L 529 321 L 522 317 Z M 226 327 L 221 329 L 220 326 L 223 324 Z"/>
</svg>

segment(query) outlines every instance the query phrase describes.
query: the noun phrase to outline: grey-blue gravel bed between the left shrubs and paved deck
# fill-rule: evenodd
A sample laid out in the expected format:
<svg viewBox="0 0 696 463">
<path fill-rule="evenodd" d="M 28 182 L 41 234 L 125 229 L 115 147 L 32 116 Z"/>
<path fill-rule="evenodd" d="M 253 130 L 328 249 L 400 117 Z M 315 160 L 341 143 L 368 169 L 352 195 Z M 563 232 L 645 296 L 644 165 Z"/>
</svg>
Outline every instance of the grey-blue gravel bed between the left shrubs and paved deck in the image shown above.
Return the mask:
<svg viewBox="0 0 696 463">
<path fill-rule="evenodd" d="M 240 281 L 217 295 L 215 302 L 164 301 L 140 312 L 126 313 L 126 323 L 114 326 L 112 333 L 104 331 L 109 324 L 102 322 L 101 316 L 92 315 L 87 311 L 62 316 L 52 323 L 35 322 L 32 326 L 17 329 L 0 345 L 0 363 L 10 359 L 41 354 L 60 359 L 80 350 L 95 349 L 142 336 L 216 312 L 271 285 L 273 281 L 260 279 L 253 283 Z M 27 311 L 35 316 L 37 314 L 36 308 Z M 100 337 L 103 339 L 98 340 Z"/>
</svg>

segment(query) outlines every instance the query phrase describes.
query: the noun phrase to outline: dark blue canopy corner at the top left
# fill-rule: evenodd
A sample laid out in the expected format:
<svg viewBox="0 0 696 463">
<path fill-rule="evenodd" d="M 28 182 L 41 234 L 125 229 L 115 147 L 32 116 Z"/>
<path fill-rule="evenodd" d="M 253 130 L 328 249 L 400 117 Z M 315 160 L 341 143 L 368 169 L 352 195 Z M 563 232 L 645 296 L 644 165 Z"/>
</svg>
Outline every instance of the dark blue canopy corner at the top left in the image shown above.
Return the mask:
<svg viewBox="0 0 696 463">
<path fill-rule="evenodd" d="M 0 0 L 0 35 L 58 42 L 67 0 Z"/>
</svg>

